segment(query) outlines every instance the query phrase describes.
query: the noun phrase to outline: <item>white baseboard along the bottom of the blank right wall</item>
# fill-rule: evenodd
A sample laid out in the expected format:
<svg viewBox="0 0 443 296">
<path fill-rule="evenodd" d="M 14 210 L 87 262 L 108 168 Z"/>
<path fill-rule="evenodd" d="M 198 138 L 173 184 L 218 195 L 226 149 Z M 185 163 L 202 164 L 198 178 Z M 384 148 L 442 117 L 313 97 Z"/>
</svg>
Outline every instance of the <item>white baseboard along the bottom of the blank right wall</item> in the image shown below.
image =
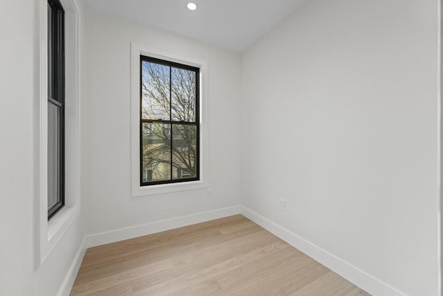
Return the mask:
<svg viewBox="0 0 443 296">
<path fill-rule="evenodd" d="M 406 296 L 406 294 L 402 293 L 396 288 L 393 288 L 392 286 L 383 283 L 379 279 L 368 275 L 368 273 L 364 272 L 363 270 L 354 267 L 350 263 L 343 261 L 342 259 L 334 256 L 326 250 L 323 250 L 313 243 L 306 241 L 293 232 L 290 232 L 288 229 L 285 229 L 284 227 L 273 223 L 271 220 L 260 216 L 254 211 L 251 211 L 251 209 L 242 207 L 242 214 L 246 218 L 252 220 L 254 223 L 257 223 L 267 231 L 271 232 L 275 236 L 278 236 L 283 241 L 286 241 L 287 243 L 289 243 L 289 245 L 296 247 L 296 249 L 325 265 L 330 270 L 336 272 L 338 275 L 341 275 L 342 277 L 352 282 L 356 286 L 359 286 L 371 295 Z"/>
</svg>

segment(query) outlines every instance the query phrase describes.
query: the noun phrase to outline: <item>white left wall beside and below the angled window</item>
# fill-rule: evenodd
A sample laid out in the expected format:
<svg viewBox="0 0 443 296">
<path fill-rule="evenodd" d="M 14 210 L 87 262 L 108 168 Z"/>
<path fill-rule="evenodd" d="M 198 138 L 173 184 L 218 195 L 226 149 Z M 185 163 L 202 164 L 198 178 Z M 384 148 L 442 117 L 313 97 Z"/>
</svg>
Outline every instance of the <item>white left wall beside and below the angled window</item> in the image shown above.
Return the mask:
<svg viewBox="0 0 443 296">
<path fill-rule="evenodd" d="M 38 11 L 37 1 L 0 1 L 0 295 L 8 296 L 57 295 L 84 238 L 75 219 L 35 268 Z"/>
</svg>

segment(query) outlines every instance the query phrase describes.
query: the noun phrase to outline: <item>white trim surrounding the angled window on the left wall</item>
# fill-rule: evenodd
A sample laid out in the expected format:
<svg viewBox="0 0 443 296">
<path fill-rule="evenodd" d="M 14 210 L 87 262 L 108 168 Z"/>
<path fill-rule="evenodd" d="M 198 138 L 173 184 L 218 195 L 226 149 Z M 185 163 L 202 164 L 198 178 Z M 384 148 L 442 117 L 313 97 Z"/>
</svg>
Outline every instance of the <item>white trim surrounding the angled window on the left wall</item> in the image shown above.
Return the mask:
<svg viewBox="0 0 443 296">
<path fill-rule="evenodd" d="M 65 205 L 48 221 L 48 2 L 39 0 L 39 98 L 35 110 L 35 192 L 37 244 L 35 265 L 42 265 L 80 214 L 80 103 L 78 99 L 78 9 L 73 0 L 60 0 L 65 10 L 66 159 Z M 69 148 L 68 148 L 69 147 Z"/>
</svg>

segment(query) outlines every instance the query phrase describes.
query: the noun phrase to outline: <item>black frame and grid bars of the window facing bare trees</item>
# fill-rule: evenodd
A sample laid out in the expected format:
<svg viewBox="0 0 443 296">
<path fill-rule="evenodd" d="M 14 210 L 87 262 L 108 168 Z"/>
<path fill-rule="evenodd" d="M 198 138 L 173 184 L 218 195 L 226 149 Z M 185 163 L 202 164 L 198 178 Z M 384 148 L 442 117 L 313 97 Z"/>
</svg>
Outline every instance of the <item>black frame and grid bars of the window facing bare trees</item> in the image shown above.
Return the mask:
<svg viewBox="0 0 443 296">
<path fill-rule="evenodd" d="M 173 121 L 171 112 L 170 112 L 170 120 L 157 120 L 157 119 L 143 119 L 143 86 L 142 86 L 142 79 L 143 79 L 143 62 L 151 62 L 154 64 L 161 64 L 168 67 L 174 67 L 178 69 L 185 69 L 188 71 L 194 71 L 196 73 L 196 80 L 195 80 L 195 122 L 190 121 Z M 170 69 L 170 73 L 172 72 L 172 69 Z M 171 87 L 172 87 L 172 78 L 170 77 L 170 105 L 172 103 L 172 95 L 171 95 Z M 174 183 L 184 183 L 184 182 L 192 182 L 192 181 L 199 181 L 200 180 L 200 69 L 198 67 L 192 67 L 187 64 L 181 64 L 178 62 L 171 62 L 169 60 L 161 60 L 159 58 L 152 58 L 147 55 L 140 55 L 140 114 L 139 114 L 139 129 L 140 129 L 140 139 L 139 139 L 139 152 L 140 152 L 140 165 L 139 165 L 139 171 L 140 171 L 140 186 L 152 186 L 152 185 L 159 185 L 159 184 L 174 184 Z M 170 147 L 171 147 L 171 164 L 170 164 L 170 180 L 161 180 L 161 181 L 152 181 L 152 182 L 143 182 L 143 123 L 163 123 L 163 124 L 169 124 L 170 130 L 171 130 L 171 136 L 170 136 Z M 172 125 L 195 125 L 196 130 L 196 157 L 195 157 L 195 177 L 189 177 L 189 178 L 183 178 L 183 179 L 174 179 L 173 178 L 173 164 L 172 164 Z"/>
</svg>

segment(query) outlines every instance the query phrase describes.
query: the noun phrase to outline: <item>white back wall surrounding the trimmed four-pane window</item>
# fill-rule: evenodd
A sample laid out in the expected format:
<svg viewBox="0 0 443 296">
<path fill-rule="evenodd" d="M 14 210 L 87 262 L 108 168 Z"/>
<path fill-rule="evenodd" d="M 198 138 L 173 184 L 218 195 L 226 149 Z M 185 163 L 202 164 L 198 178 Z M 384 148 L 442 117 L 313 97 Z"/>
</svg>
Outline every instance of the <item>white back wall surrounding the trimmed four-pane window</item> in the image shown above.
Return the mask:
<svg viewBox="0 0 443 296">
<path fill-rule="evenodd" d="M 184 37 L 87 15 L 86 95 L 82 101 L 82 207 L 87 233 L 198 214 L 240 202 L 240 55 Z M 131 42 L 208 61 L 209 186 L 131 196 Z"/>
</svg>

